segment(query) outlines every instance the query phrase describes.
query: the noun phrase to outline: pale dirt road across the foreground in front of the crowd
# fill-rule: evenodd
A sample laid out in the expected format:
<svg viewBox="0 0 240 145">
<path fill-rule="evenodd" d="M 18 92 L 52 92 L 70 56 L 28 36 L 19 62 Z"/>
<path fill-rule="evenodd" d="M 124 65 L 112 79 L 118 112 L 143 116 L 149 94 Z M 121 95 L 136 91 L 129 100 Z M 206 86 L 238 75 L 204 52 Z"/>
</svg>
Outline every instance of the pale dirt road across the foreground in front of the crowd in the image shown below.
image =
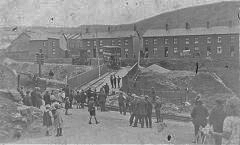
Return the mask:
<svg viewBox="0 0 240 145">
<path fill-rule="evenodd" d="M 157 132 L 157 125 L 153 123 L 153 128 L 133 128 L 129 126 L 128 118 L 118 112 L 97 112 L 100 124 L 88 124 L 87 109 L 70 110 L 72 115 L 64 115 L 63 136 L 50 137 L 44 133 L 38 137 L 28 137 L 15 143 L 54 143 L 54 144 L 159 144 L 167 143 L 167 135 L 174 136 L 175 143 L 191 143 L 193 127 L 191 123 L 180 123 L 165 121 L 167 128 L 162 133 Z M 155 122 L 155 120 L 153 120 Z"/>
</svg>

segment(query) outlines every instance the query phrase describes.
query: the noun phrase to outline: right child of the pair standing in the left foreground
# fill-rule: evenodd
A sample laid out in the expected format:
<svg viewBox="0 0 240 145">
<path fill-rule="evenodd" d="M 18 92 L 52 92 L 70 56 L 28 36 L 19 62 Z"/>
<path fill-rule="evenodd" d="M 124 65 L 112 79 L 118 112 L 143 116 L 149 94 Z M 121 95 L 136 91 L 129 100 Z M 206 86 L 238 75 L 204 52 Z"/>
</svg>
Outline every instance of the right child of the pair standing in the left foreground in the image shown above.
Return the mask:
<svg viewBox="0 0 240 145">
<path fill-rule="evenodd" d="M 62 125 L 63 125 L 63 119 L 62 115 L 60 113 L 60 105 L 56 104 L 55 105 L 56 110 L 54 111 L 54 125 L 57 130 L 57 135 L 56 136 L 62 136 Z"/>
</svg>

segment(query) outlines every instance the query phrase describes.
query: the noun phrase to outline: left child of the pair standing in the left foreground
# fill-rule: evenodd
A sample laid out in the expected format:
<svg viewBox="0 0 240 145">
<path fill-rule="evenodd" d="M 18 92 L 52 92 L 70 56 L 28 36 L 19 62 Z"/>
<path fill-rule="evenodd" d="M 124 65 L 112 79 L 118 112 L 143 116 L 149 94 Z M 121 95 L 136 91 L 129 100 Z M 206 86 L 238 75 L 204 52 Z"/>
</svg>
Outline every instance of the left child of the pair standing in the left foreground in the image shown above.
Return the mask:
<svg viewBox="0 0 240 145">
<path fill-rule="evenodd" d="M 46 136 L 50 136 L 50 128 L 52 126 L 53 123 L 53 115 L 52 112 L 50 110 L 50 105 L 47 104 L 46 105 L 46 110 L 43 113 L 43 126 L 47 127 L 47 131 L 46 131 Z"/>
</svg>

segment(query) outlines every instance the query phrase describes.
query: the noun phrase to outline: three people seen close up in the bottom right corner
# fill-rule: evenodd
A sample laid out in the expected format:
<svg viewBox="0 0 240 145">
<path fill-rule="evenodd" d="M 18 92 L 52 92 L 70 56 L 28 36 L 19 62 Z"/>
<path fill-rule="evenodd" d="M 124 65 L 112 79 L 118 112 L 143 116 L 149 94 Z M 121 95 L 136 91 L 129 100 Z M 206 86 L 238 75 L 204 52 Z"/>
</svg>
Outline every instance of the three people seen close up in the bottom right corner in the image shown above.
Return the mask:
<svg viewBox="0 0 240 145">
<path fill-rule="evenodd" d="M 240 99 L 238 97 L 231 97 L 227 101 L 217 99 L 216 106 L 209 113 L 200 98 L 200 96 L 196 98 L 191 112 L 195 133 L 193 142 L 199 142 L 200 128 L 209 125 L 212 128 L 209 134 L 213 137 L 215 145 L 221 145 L 223 138 L 229 145 L 240 144 Z"/>
</svg>

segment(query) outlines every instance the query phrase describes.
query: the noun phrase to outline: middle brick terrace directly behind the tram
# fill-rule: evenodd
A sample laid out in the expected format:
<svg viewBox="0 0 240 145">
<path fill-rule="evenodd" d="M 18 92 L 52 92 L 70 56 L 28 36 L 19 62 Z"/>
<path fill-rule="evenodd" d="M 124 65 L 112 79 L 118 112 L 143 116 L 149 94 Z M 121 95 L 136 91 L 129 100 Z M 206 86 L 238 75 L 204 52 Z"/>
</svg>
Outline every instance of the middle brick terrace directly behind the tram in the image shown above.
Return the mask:
<svg viewBox="0 0 240 145">
<path fill-rule="evenodd" d="M 67 46 L 71 54 L 79 54 L 86 50 L 89 58 L 96 58 L 99 49 L 102 55 L 103 46 L 119 46 L 122 48 L 123 58 L 136 57 L 140 47 L 140 39 L 135 31 L 110 31 L 66 34 Z"/>
</svg>

